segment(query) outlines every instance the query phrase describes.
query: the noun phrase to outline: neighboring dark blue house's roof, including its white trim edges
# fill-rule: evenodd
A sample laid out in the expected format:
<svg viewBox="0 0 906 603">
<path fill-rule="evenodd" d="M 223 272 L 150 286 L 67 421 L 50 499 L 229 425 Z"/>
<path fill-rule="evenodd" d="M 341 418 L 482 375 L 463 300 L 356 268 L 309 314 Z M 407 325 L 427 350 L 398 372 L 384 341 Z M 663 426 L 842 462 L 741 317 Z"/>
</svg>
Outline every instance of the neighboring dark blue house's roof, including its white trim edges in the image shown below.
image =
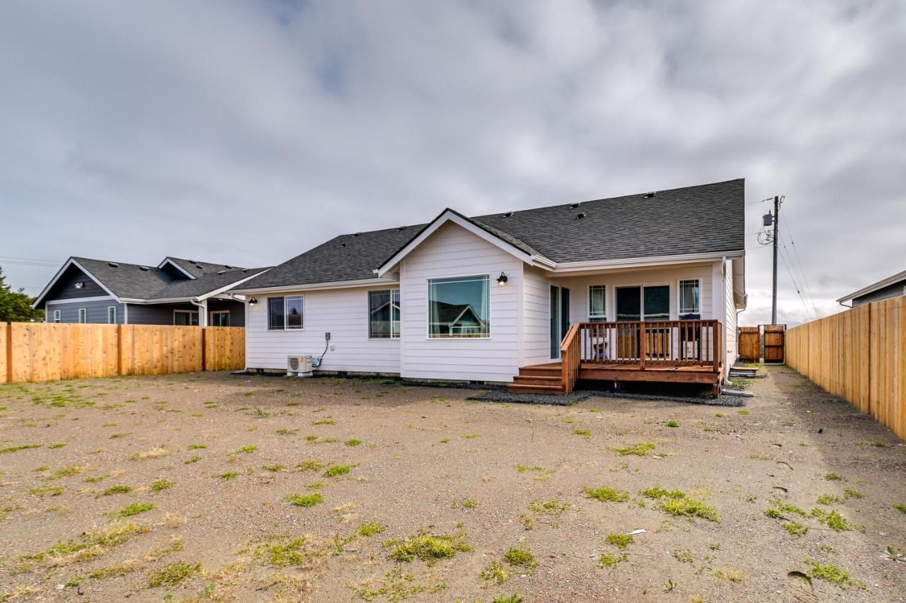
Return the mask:
<svg viewBox="0 0 906 603">
<path fill-rule="evenodd" d="M 174 258 L 168 258 L 174 260 Z M 166 262 L 166 260 L 165 260 Z M 180 261 L 183 262 L 183 261 Z M 111 262 L 87 257 L 71 257 L 35 299 L 38 307 L 53 290 L 53 284 L 71 266 L 88 273 L 101 287 L 120 300 L 155 302 L 172 299 L 191 299 L 217 292 L 229 285 L 262 273 L 266 268 L 239 268 L 226 270 L 225 264 L 193 264 L 194 274 L 186 278 L 173 278 L 167 271 L 146 264 Z M 163 262 L 161 263 L 163 264 Z M 215 270 L 217 268 L 217 270 Z M 188 267 L 186 268 L 188 272 Z"/>
</svg>

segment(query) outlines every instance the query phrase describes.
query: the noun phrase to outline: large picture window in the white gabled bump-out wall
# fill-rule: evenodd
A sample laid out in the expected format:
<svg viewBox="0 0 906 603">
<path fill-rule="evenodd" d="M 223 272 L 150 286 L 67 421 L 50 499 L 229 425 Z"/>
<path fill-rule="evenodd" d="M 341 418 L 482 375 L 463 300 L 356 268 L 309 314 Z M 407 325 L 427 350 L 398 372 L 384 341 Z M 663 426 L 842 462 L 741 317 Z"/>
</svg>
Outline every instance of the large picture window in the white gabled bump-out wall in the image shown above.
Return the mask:
<svg viewBox="0 0 906 603">
<path fill-rule="evenodd" d="M 488 276 L 430 279 L 428 336 L 432 339 L 490 337 Z"/>
</svg>

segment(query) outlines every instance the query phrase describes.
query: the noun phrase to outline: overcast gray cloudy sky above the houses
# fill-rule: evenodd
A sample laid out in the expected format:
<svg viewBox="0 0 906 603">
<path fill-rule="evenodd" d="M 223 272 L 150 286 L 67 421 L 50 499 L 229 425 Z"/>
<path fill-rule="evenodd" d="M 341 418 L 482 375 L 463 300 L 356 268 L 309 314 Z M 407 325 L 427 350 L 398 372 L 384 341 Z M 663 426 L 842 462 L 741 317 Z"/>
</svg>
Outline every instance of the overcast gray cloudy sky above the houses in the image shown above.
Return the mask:
<svg viewBox="0 0 906 603">
<path fill-rule="evenodd" d="M 270 265 L 746 177 L 741 322 L 769 321 L 785 195 L 795 323 L 906 269 L 903 57 L 899 0 L 5 0 L 0 266 L 36 294 L 55 268 L 9 258 Z"/>
</svg>

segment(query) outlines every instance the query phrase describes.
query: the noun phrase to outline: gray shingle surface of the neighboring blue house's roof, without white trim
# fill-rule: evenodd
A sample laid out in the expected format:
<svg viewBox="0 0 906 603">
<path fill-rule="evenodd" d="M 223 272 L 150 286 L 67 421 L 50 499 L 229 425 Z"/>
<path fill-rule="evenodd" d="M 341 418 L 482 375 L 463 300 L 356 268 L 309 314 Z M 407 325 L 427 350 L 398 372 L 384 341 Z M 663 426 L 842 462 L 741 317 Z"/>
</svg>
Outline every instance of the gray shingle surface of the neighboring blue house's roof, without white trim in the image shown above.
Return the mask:
<svg viewBox="0 0 906 603">
<path fill-rule="evenodd" d="M 260 273 L 266 268 L 243 268 L 240 270 L 219 273 L 199 273 L 196 279 L 174 280 L 165 271 L 154 266 L 137 263 L 109 262 L 92 260 L 87 257 L 73 257 L 73 260 L 84 266 L 85 270 L 101 281 L 117 297 L 130 300 L 169 300 L 173 298 L 198 297 L 205 293 L 226 287 L 233 282 L 241 281 L 251 274 Z M 175 258 L 170 258 L 175 259 Z M 204 266 L 222 264 L 205 263 Z"/>
</svg>

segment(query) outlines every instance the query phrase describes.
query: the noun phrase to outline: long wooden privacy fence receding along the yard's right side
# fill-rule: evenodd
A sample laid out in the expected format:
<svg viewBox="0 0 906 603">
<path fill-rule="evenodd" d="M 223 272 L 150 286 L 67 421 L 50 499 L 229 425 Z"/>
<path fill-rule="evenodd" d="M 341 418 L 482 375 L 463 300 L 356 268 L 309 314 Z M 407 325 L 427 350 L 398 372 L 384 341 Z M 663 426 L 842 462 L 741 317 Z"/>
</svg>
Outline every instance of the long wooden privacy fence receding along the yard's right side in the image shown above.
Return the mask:
<svg viewBox="0 0 906 603">
<path fill-rule="evenodd" d="M 786 364 L 906 438 L 906 297 L 787 330 Z"/>
</svg>

